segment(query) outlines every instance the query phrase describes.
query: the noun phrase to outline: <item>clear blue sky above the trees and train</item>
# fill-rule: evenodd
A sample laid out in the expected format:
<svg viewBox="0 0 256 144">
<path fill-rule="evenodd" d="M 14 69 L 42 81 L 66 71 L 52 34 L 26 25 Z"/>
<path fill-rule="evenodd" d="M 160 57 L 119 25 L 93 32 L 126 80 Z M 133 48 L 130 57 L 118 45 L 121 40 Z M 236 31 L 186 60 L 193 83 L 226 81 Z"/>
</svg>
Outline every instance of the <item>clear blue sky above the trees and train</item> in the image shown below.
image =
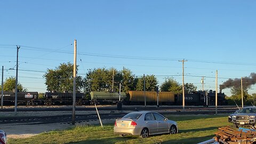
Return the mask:
<svg viewBox="0 0 256 144">
<path fill-rule="evenodd" d="M 29 91 L 45 92 L 43 75 L 72 62 L 87 69 L 129 68 L 215 90 L 228 78 L 256 72 L 256 1 L 0 1 L 0 66 Z M 256 93 L 252 86 L 250 93 Z M 223 90 L 227 95 L 230 91 Z"/>
</svg>

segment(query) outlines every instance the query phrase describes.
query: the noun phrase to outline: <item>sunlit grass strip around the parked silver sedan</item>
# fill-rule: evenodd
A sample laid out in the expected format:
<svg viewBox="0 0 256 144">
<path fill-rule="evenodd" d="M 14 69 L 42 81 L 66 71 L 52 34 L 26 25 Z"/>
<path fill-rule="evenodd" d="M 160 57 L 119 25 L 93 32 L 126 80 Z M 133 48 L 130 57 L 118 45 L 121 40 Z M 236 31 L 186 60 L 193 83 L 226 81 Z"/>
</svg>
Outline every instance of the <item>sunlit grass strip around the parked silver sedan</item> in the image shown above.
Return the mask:
<svg viewBox="0 0 256 144">
<path fill-rule="evenodd" d="M 153 135 L 142 139 L 138 136 L 114 135 L 113 126 L 77 126 L 74 129 L 42 133 L 28 139 L 9 139 L 11 143 L 198 143 L 214 137 L 218 127 L 231 125 L 228 115 L 169 115 L 179 126 L 177 134 Z"/>
</svg>

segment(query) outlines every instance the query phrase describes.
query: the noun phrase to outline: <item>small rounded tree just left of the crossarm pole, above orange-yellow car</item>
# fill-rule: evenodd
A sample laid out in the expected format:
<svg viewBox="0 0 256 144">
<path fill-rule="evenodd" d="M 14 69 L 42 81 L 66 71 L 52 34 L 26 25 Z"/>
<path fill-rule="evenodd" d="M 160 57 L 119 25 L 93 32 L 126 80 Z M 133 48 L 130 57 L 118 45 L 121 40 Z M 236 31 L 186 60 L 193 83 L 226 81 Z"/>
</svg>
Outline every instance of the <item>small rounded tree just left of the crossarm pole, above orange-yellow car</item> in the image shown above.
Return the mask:
<svg viewBox="0 0 256 144">
<path fill-rule="evenodd" d="M 182 93 L 182 86 L 173 78 L 166 78 L 160 89 L 162 92 Z"/>
</svg>

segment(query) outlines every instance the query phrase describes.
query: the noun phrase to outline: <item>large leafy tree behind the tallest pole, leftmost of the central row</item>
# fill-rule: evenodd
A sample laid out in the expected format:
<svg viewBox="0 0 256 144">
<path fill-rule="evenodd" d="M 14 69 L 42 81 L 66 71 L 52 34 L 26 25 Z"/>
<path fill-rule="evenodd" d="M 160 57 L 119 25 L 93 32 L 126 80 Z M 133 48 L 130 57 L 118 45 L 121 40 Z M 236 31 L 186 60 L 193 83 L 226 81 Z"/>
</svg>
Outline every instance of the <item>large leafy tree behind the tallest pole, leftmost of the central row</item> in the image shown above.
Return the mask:
<svg viewBox="0 0 256 144">
<path fill-rule="evenodd" d="M 44 74 L 45 84 L 48 91 L 73 91 L 73 64 L 61 63 L 56 69 L 48 69 Z M 76 68 L 78 71 L 78 69 Z M 82 76 L 76 76 L 76 91 L 83 87 Z"/>
</svg>

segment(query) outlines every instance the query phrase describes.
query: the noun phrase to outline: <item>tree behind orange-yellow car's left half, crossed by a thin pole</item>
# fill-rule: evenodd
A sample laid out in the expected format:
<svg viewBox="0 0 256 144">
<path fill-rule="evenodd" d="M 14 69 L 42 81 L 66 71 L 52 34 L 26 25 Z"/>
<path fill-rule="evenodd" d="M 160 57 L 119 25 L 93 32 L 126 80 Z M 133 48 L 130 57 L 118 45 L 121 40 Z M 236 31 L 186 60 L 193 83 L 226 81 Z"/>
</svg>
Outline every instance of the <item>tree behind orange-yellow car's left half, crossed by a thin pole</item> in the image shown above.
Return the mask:
<svg viewBox="0 0 256 144">
<path fill-rule="evenodd" d="M 154 75 L 145 76 L 145 89 L 146 91 L 156 91 L 157 79 Z M 144 79 L 143 76 L 138 78 L 136 85 L 137 91 L 144 91 Z"/>
</svg>

